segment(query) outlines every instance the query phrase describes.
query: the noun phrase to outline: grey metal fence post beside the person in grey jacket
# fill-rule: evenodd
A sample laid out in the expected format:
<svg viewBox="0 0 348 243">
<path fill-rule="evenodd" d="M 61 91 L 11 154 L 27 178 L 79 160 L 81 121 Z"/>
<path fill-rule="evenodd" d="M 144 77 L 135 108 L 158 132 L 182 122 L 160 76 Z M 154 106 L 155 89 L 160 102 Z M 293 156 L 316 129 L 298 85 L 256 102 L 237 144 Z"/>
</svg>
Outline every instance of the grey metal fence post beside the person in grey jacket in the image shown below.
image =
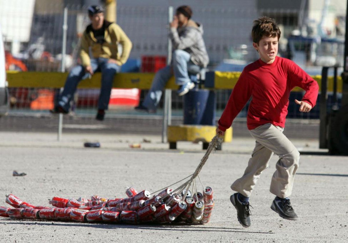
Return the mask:
<svg viewBox="0 0 348 243">
<path fill-rule="evenodd" d="M 168 23 L 173 21 L 173 7 L 168 8 Z M 171 63 L 172 60 L 172 41 L 168 37 L 168 55 L 167 55 L 167 65 Z M 162 124 L 162 143 L 165 143 L 167 138 L 167 126 L 172 123 L 172 90 L 165 89 L 164 99 L 163 99 L 163 124 Z"/>
</svg>

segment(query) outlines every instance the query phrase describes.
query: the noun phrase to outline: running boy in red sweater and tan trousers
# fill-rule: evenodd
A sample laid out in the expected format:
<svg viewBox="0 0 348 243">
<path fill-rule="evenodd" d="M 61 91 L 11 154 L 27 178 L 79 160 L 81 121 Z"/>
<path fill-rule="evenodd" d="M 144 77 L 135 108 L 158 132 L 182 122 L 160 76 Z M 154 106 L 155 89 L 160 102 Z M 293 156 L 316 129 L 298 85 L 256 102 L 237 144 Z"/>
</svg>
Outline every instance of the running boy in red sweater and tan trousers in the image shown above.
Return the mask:
<svg viewBox="0 0 348 243">
<path fill-rule="evenodd" d="M 283 134 L 290 91 L 299 86 L 306 93 L 299 104 L 301 112 L 309 112 L 316 103 L 319 86 L 293 61 L 277 56 L 280 30 L 274 19 L 254 20 L 253 47 L 260 59 L 247 65 L 240 75 L 218 122 L 216 133 L 224 134 L 246 102 L 252 97 L 247 114 L 247 127 L 256 145 L 244 175 L 231 189 L 237 193 L 230 200 L 237 209 L 237 218 L 244 227 L 250 226 L 249 197 L 262 171 L 275 153 L 279 156 L 270 192 L 276 198 L 271 209 L 285 219 L 296 220 L 290 199 L 300 153 Z"/>
</svg>

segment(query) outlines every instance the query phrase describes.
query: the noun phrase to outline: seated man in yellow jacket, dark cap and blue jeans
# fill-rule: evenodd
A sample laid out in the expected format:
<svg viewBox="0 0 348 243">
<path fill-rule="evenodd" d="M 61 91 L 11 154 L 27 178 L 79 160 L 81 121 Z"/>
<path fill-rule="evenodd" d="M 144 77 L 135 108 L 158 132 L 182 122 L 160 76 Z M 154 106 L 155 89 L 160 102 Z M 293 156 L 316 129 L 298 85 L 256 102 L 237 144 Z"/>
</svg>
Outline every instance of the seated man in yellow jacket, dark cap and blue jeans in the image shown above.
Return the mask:
<svg viewBox="0 0 348 243">
<path fill-rule="evenodd" d="M 102 73 L 102 84 L 96 119 L 104 120 L 105 110 L 108 109 L 109 105 L 114 74 L 119 72 L 121 65 L 127 61 L 129 52 L 132 49 L 132 42 L 120 26 L 104 20 L 104 9 L 102 7 L 90 6 L 88 16 L 91 24 L 87 26 L 81 40 L 81 65 L 71 69 L 64 90 L 52 112 L 67 114 L 78 83 L 100 71 Z M 121 54 L 118 52 L 118 43 L 122 45 Z M 89 49 L 91 49 L 92 57 L 89 57 Z"/>
</svg>

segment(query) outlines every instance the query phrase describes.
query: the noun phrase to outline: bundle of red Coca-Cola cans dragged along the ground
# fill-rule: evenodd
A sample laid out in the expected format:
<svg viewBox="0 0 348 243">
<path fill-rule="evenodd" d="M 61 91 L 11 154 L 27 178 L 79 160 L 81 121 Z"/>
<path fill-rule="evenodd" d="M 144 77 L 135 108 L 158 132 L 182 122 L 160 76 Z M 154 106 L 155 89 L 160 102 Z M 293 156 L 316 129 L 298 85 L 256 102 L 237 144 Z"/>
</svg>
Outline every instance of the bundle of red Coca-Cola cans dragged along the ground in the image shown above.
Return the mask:
<svg viewBox="0 0 348 243">
<path fill-rule="evenodd" d="M 0 207 L 0 216 L 13 219 L 46 219 L 105 223 L 170 223 L 209 222 L 214 207 L 213 190 L 206 187 L 203 193 L 190 190 L 174 193 L 170 187 L 150 197 L 148 190 L 139 193 L 127 188 L 128 198 L 106 199 L 93 195 L 91 199 L 65 199 L 53 197 L 52 207 L 34 206 L 13 194 L 6 202 L 14 208 Z"/>
</svg>

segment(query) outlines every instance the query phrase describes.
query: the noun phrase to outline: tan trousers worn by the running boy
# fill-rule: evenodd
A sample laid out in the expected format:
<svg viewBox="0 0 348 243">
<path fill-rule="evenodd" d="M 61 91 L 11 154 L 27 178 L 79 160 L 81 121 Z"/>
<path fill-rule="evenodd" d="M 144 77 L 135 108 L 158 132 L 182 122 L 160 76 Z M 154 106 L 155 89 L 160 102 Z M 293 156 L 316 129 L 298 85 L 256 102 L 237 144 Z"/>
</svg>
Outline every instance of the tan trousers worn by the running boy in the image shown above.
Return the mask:
<svg viewBox="0 0 348 243">
<path fill-rule="evenodd" d="M 232 190 L 250 197 L 262 171 L 268 167 L 268 162 L 275 153 L 279 156 L 279 160 L 272 177 L 270 192 L 279 198 L 291 195 L 300 153 L 283 134 L 283 130 L 284 128 L 270 123 L 249 130 L 256 140 L 256 145 L 244 175 L 231 185 Z"/>
</svg>

